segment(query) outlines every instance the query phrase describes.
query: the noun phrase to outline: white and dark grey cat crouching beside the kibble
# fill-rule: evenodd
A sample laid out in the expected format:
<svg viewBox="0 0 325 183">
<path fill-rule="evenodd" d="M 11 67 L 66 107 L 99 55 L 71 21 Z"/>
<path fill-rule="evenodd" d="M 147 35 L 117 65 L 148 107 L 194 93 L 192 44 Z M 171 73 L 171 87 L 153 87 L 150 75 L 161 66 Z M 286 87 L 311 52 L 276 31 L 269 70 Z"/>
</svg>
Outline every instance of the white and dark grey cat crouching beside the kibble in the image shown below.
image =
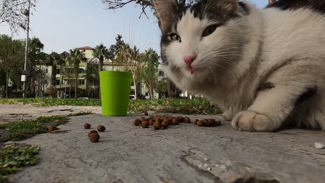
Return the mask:
<svg viewBox="0 0 325 183">
<path fill-rule="evenodd" d="M 167 77 L 236 130 L 325 130 L 325 1 L 154 0 Z"/>
</svg>

